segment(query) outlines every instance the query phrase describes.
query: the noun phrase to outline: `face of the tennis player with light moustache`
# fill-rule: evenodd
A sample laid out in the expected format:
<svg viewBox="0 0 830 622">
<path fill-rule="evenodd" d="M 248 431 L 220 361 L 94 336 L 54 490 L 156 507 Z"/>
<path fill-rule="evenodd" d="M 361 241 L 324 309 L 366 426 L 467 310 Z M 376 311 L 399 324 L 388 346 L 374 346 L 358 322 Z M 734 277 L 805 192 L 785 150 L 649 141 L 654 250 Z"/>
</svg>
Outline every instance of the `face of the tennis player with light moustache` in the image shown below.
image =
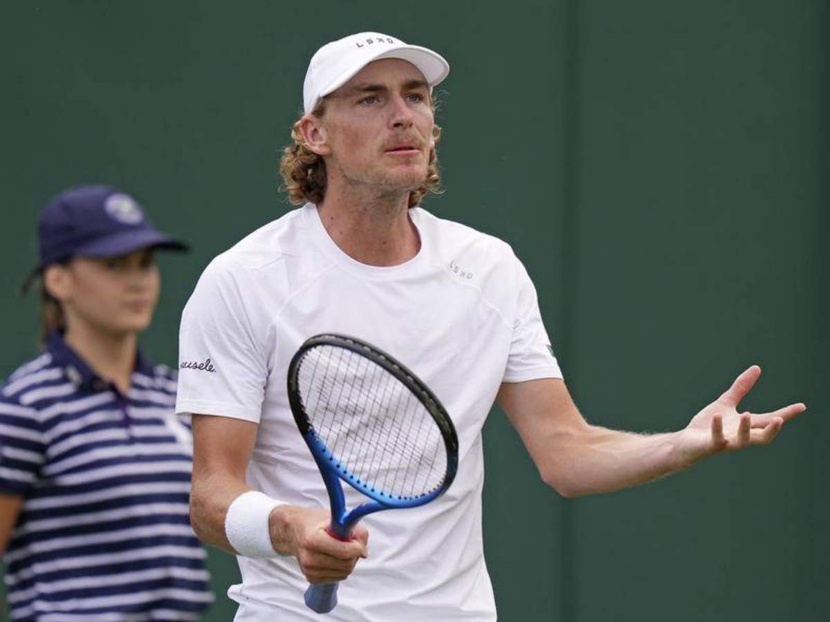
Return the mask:
<svg viewBox="0 0 830 622">
<path fill-rule="evenodd" d="M 325 101 L 328 168 L 336 167 L 346 182 L 382 192 L 422 184 L 435 147 L 434 119 L 429 86 L 412 63 L 369 63 Z"/>
</svg>

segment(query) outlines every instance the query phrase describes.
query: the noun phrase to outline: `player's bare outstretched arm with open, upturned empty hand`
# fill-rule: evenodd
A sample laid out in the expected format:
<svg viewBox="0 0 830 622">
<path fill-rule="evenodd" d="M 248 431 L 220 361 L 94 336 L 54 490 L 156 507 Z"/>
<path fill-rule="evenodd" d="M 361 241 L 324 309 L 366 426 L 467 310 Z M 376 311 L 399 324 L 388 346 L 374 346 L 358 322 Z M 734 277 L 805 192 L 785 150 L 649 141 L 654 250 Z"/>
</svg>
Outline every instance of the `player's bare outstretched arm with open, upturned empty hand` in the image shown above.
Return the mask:
<svg viewBox="0 0 830 622">
<path fill-rule="evenodd" d="M 564 381 L 556 379 L 505 382 L 496 401 L 544 482 L 564 497 L 577 497 L 644 484 L 720 451 L 769 443 L 805 406 L 739 413 L 738 404 L 760 373 L 760 367 L 749 367 L 684 430 L 667 434 L 638 435 L 590 425 Z"/>
</svg>

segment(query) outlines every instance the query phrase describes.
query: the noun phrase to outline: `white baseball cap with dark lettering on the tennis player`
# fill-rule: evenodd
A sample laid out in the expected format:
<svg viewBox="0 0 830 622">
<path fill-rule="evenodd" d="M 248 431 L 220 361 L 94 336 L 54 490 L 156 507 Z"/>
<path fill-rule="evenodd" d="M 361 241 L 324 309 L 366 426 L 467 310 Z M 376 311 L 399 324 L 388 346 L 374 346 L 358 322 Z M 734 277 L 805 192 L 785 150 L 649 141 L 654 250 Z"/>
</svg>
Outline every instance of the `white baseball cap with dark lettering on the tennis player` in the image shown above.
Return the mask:
<svg viewBox="0 0 830 622">
<path fill-rule="evenodd" d="M 309 114 L 320 100 L 346 82 L 372 61 L 400 58 L 416 66 L 430 89 L 450 73 L 444 57 L 421 46 L 408 46 L 400 39 L 380 32 L 359 32 L 322 46 L 311 56 L 303 83 L 303 109 Z"/>
</svg>

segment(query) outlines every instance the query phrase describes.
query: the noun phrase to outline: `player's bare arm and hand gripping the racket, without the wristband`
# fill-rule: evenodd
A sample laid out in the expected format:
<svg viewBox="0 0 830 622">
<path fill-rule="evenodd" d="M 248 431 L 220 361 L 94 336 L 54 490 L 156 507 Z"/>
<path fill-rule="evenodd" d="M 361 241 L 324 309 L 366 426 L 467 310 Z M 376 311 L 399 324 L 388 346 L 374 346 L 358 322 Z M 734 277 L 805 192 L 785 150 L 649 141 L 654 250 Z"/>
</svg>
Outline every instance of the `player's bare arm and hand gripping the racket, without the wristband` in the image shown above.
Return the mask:
<svg viewBox="0 0 830 622">
<path fill-rule="evenodd" d="M 193 415 L 193 487 L 190 521 L 205 543 L 236 553 L 225 533 L 227 508 L 251 490 L 245 471 L 256 440 L 257 425 L 250 421 L 213 415 Z M 311 583 L 343 581 L 360 557 L 366 556 L 369 538 L 355 527 L 351 542 L 340 542 L 325 532 L 330 516 L 320 509 L 280 505 L 268 520 L 275 555 L 292 555 Z"/>
</svg>

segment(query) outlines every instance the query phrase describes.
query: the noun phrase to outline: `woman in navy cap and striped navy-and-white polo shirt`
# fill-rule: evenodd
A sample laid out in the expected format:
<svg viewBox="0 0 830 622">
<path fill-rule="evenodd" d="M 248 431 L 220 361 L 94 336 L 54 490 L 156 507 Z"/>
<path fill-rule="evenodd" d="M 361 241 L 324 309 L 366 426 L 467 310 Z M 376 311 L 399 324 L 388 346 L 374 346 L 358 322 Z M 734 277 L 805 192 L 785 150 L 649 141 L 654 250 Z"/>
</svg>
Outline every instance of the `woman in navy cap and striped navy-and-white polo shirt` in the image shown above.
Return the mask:
<svg viewBox="0 0 830 622">
<path fill-rule="evenodd" d="M 0 387 L 0 551 L 16 622 L 198 620 L 212 600 L 188 520 L 192 445 L 175 373 L 137 338 L 154 250 L 186 250 L 132 198 L 62 192 L 42 212 L 44 349 Z"/>
</svg>

